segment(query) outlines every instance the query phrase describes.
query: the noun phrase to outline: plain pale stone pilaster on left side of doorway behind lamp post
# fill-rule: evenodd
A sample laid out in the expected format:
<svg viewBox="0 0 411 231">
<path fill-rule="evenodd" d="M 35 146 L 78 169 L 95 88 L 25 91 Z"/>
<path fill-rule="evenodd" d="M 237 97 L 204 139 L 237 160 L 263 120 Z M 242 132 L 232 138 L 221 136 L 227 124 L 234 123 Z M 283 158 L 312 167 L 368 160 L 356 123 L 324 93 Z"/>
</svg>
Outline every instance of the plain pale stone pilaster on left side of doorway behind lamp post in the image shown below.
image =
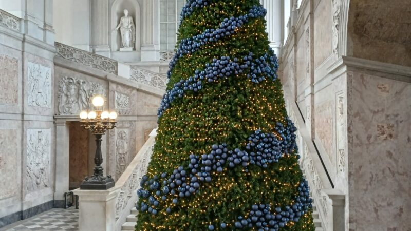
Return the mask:
<svg viewBox="0 0 411 231">
<path fill-rule="evenodd" d="M 55 192 L 54 206 L 64 206 L 64 192 L 68 191 L 70 161 L 70 127 L 66 121 L 55 122 Z"/>
</svg>

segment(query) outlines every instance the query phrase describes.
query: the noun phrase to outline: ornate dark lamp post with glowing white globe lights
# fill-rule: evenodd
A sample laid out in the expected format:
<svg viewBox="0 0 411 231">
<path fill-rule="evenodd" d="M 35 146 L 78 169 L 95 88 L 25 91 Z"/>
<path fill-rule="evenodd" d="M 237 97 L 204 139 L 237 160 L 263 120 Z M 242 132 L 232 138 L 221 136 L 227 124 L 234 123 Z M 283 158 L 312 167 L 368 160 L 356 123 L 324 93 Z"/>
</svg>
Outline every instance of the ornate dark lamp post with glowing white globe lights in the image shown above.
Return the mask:
<svg viewBox="0 0 411 231">
<path fill-rule="evenodd" d="M 106 190 L 114 187 L 114 180 L 111 176 L 103 176 L 103 156 L 101 154 L 101 137 L 106 130 L 111 130 L 116 127 L 117 113 L 115 111 L 102 111 L 104 98 L 101 95 L 96 95 L 92 99 L 92 104 L 96 110 L 89 112 L 82 111 L 80 113 L 81 126 L 90 130 L 96 136 L 96 156 L 94 157 L 94 174 L 91 177 L 86 177 L 80 184 L 80 189 L 88 190 Z"/>
</svg>

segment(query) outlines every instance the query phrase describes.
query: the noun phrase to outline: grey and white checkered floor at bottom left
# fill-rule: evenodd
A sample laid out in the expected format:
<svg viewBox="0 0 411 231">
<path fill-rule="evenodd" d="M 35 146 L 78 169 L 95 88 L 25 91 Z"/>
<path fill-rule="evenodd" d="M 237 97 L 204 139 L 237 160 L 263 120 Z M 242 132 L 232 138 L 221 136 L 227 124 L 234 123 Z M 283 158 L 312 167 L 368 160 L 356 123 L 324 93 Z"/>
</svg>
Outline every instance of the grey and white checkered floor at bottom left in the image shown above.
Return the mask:
<svg viewBox="0 0 411 231">
<path fill-rule="evenodd" d="M 0 231 L 22 230 L 79 230 L 79 209 L 74 206 L 68 209 L 53 208 L 38 216 L 0 228 Z"/>
</svg>

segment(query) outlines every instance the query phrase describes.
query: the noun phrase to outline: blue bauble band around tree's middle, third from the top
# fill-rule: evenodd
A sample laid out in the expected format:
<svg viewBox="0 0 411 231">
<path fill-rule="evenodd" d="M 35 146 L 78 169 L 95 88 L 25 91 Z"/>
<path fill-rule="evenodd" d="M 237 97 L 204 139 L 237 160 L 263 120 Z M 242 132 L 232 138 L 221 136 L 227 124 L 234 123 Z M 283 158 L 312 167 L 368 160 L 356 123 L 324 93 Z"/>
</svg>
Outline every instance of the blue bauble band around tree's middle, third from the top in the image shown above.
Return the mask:
<svg viewBox="0 0 411 231">
<path fill-rule="evenodd" d="M 201 90 L 204 84 L 203 81 L 212 83 L 218 79 L 227 78 L 232 74 L 247 72 L 249 72 L 247 77 L 254 83 L 259 83 L 265 80 L 265 78 L 275 81 L 277 79 L 277 68 L 278 60 L 271 49 L 268 53 L 256 58 L 253 57 L 253 53 L 250 53 L 242 58 L 241 64 L 239 64 L 237 58 L 231 60 L 229 56 L 222 56 L 219 60 L 214 59 L 211 64 L 206 65 L 206 69 L 202 71 L 196 70 L 194 76 L 175 83 L 173 88 L 164 94 L 157 115 L 161 117 L 163 112 L 171 107 L 172 102 L 182 98 L 186 92 L 198 92 Z M 249 69 L 251 71 L 248 71 Z"/>
</svg>

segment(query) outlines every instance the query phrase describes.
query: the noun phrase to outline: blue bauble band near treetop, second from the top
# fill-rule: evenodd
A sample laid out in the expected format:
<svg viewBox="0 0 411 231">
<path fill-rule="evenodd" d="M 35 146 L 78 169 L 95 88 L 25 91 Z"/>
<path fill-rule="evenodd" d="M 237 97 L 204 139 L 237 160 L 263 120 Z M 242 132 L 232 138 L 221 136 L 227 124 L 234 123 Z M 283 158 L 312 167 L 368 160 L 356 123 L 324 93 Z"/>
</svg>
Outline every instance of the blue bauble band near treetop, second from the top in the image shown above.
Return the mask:
<svg viewBox="0 0 411 231">
<path fill-rule="evenodd" d="M 223 37 L 233 34 L 236 28 L 249 22 L 250 18 L 264 17 L 266 13 L 267 10 L 264 9 L 264 7 L 253 6 L 249 13 L 244 16 L 225 18 L 217 29 L 206 29 L 206 31 L 201 34 L 194 35 L 190 38 L 184 38 L 181 40 L 173 60 L 170 62 L 170 70 L 167 72 L 167 76 L 170 78 L 174 66 L 177 64 L 178 59 L 183 57 L 183 55 L 192 54 L 208 42 L 216 42 Z"/>
</svg>

